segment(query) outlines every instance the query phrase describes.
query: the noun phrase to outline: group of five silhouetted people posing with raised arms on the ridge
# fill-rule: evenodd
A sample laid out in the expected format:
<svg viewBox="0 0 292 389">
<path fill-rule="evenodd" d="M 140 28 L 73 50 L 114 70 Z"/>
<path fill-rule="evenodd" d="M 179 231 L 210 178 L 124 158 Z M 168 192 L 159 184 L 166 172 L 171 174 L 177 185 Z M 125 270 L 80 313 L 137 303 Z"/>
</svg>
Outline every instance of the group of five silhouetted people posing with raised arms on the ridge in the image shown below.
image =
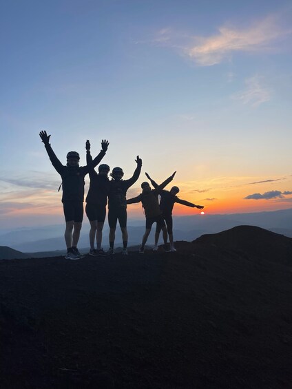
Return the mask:
<svg viewBox="0 0 292 389">
<path fill-rule="evenodd" d="M 178 187 L 174 186 L 170 191 L 164 188 L 174 179 L 176 171 L 169 176 L 164 182 L 158 185 L 149 174 L 145 173 L 150 180 L 141 184 L 142 192 L 134 197 L 127 199 L 127 190 L 132 187 L 138 180 L 142 168 L 142 160 L 139 156 L 136 157 L 136 169 L 134 174 L 128 180 L 123 180 L 124 172 L 121 167 L 114 167 L 110 173 L 110 166 L 100 164 L 101 160 L 107 152 L 110 143 L 107 140 L 101 141 L 101 151 L 92 158 L 90 153 L 90 141 L 85 143 L 86 162 L 87 165 L 79 166 L 80 156 L 77 151 L 69 151 L 67 153 L 67 163 L 63 165 L 56 157 L 52 146 L 50 145 L 50 135 L 46 131 L 39 133 L 45 149 L 48 153 L 52 165 L 60 174 L 63 189 L 62 203 L 65 216 L 65 244 L 67 246 L 66 259 L 79 260 L 83 255 L 77 248 L 80 231 L 83 222 L 83 201 L 84 201 L 84 186 L 85 176 L 90 176 L 90 188 L 88 190 L 85 202 L 85 213 L 90 221 L 90 252 L 92 257 L 103 255 L 114 255 L 114 240 L 116 233 L 117 222 L 120 225 L 123 238 L 122 255 L 128 255 L 127 242 L 127 204 L 141 202 L 146 218 L 145 233 L 142 238 L 139 253 L 145 253 L 145 244 L 152 229 L 152 224 L 156 223 L 155 244 L 153 250 L 158 250 L 158 239 L 160 231 L 163 231 L 163 249 L 164 251 L 176 251 L 174 248 L 174 235 L 172 231 L 172 209 L 174 204 L 186 205 L 202 209 L 202 205 L 196 205 L 192 202 L 180 200 L 176 195 L 179 192 Z M 100 164 L 100 165 L 98 165 Z M 98 165 L 98 173 L 94 169 Z M 109 174 L 111 179 L 109 179 Z M 158 200 L 160 196 L 160 202 Z M 110 249 L 107 252 L 103 251 L 101 246 L 103 240 L 103 225 L 106 217 L 106 206 L 108 206 L 107 219 L 110 227 L 109 244 Z M 169 244 L 167 240 L 169 238 Z"/>
</svg>

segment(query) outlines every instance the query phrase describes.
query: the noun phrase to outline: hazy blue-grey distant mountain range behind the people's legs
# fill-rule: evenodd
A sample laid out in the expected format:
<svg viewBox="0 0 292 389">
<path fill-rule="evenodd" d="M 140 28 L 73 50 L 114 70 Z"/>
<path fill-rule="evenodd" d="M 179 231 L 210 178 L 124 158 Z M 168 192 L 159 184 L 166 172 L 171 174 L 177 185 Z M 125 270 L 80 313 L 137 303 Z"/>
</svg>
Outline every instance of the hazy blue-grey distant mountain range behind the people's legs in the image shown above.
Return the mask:
<svg viewBox="0 0 292 389">
<path fill-rule="evenodd" d="M 107 224 L 107 222 L 106 222 Z M 253 225 L 292 238 L 292 209 L 257 213 L 233 213 L 230 215 L 189 215 L 174 216 L 174 239 L 191 242 L 202 234 L 218 233 L 238 225 Z M 88 233 L 90 225 L 83 223 L 79 249 L 89 246 Z M 147 243 L 153 244 L 154 230 Z M 103 247 L 108 246 L 108 227 L 103 231 Z M 140 244 L 145 231 L 145 220 L 128 220 L 129 246 Z M 9 246 L 23 253 L 36 251 L 55 251 L 65 249 L 63 238 L 64 225 L 46 227 L 21 228 L 0 231 L 0 246 Z M 161 239 L 161 238 L 160 238 Z M 116 230 L 116 246 L 122 242 L 121 231 Z M 162 242 L 162 240 L 160 240 Z"/>
</svg>

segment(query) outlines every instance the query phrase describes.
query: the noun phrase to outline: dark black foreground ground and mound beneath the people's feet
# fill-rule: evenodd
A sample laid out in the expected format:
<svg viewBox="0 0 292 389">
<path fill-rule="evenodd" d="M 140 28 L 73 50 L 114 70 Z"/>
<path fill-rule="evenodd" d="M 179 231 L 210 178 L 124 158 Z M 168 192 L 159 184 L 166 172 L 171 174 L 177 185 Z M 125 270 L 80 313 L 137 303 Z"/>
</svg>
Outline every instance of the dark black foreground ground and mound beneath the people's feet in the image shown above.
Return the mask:
<svg viewBox="0 0 292 389">
<path fill-rule="evenodd" d="M 292 239 L 0 261 L 0 388 L 292 388 Z"/>
</svg>

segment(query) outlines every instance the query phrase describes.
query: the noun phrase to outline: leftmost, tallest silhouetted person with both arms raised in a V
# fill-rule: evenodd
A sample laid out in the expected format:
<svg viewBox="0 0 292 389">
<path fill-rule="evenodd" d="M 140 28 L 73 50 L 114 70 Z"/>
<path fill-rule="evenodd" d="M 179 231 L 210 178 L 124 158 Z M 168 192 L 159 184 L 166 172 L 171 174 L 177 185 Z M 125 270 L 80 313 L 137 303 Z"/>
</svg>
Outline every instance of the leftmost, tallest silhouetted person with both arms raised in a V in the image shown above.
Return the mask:
<svg viewBox="0 0 292 389">
<path fill-rule="evenodd" d="M 76 151 L 69 151 L 67 154 L 67 164 L 62 165 L 50 145 L 50 135 L 46 131 L 41 131 L 39 136 L 45 145 L 52 165 L 62 178 L 62 202 L 66 222 L 64 237 L 67 246 L 65 258 L 79 260 L 81 254 L 77 249 L 77 244 L 83 220 L 84 177 L 91 168 L 94 168 L 101 162 L 109 143 L 107 140 L 102 140 L 101 152 L 92 160 L 92 164 L 81 167 L 79 166 L 79 154 Z"/>
</svg>

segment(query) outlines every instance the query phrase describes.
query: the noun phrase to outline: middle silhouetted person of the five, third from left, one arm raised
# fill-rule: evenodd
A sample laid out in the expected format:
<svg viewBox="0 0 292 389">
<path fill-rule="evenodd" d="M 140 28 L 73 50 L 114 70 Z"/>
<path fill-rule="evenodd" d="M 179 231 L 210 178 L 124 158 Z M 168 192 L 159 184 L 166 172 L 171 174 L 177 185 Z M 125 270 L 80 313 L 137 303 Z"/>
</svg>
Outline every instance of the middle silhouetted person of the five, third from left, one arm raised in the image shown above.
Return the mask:
<svg viewBox="0 0 292 389">
<path fill-rule="evenodd" d="M 137 156 L 135 160 L 137 167 L 134 171 L 132 178 L 129 180 L 123 180 L 124 172 L 121 167 L 114 167 L 112 169 L 112 180 L 110 180 L 110 191 L 109 191 L 109 204 L 108 204 L 108 221 L 110 226 L 110 249 L 107 251 L 108 254 L 114 254 L 114 240 L 116 238 L 116 223 L 120 224 L 123 238 L 123 255 L 127 255 L 127 200 L 126 194 L 129 187 L 138 180 L 142 167 L 142 160 Z"/>
</svg>

